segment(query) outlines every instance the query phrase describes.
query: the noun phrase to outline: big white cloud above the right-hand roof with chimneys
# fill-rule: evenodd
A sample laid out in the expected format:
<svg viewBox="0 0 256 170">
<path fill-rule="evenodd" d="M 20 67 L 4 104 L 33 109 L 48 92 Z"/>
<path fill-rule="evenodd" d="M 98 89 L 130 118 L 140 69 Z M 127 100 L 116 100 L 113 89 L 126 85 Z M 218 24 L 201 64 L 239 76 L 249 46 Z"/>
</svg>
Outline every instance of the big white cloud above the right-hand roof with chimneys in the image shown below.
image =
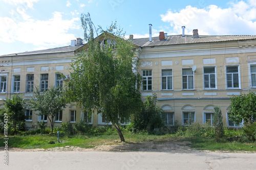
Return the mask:
<svg viewBox="0 0 256 170">
<path fill-rule="evenodd" d="M 225 9 L 216 5 L 203 9 L 187 6 L 178 12 L 169 10 L 161 18 L 173 27 L 173 30 L 168 30 L 172 34 L 181 34 L 181 27 L 186 26 L 185 34 L 190 35 L 193 29 L 198 29 L 199 35 L 254 35 L 256 8 L 250 3 L 240 1 Z"/>
</svg>

